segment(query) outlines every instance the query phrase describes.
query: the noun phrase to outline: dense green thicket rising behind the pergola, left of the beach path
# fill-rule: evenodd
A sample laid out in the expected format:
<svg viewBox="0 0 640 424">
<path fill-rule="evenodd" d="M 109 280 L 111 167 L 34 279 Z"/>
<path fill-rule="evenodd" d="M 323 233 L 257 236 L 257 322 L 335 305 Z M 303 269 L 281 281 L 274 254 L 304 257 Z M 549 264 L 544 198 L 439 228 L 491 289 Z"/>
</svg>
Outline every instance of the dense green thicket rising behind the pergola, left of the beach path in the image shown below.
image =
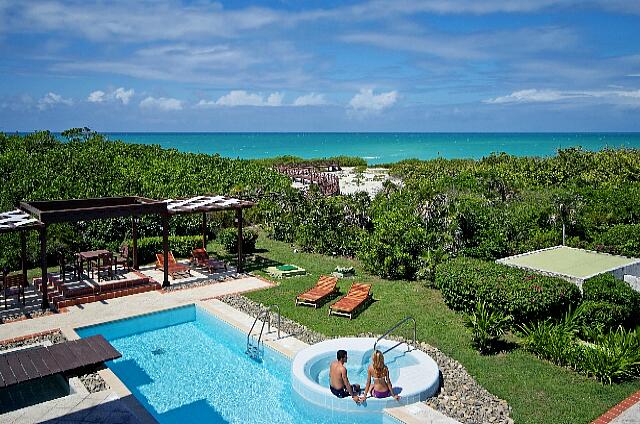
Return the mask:
<svg viewBox="0 0 640 424">
<path fill-rule="evenodd" d="M 0 210 L 7 211 L 21 200 L 138 195 L 152 199 L 187 197 L 206 193 L 241 196 L 257 200 L 264 193 L 289 189 L 287 178 L 247 160 L 180 153 L 159 146 L 106 141 L 88 130 L 63 133 L 61 142 L 49 132 L 25 136 L 0 133 Z M 249 212 L 248 219 L 260 210 Z M 210 226 L 232 225 L 233 217 L 215 214 Z M 160 235 L 159 217 L 144 217 L 141 237 Z M 171 220 L 173 234 L 201 232 L 198 216 Z M 79 222 L 49 228 L 48 253 L 56 251 L 117 247 L 131 237 L 129 219 Z M 17 268 L 19 241 L 15 234 L 0 237 L 0 267 Z M 37 235 L 29 235 L 29 261 L 37 263 Z"/>
</svg>

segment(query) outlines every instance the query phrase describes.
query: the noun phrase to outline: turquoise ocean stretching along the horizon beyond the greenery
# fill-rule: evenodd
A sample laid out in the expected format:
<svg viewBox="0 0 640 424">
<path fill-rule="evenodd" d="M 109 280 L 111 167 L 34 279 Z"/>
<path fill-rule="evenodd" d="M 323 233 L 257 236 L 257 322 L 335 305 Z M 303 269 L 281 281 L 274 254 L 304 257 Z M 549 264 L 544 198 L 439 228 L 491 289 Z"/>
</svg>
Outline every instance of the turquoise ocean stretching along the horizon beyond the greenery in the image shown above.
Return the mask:
<svg viewBox="0 0 640 424">
<path fill-rule="evenodd" d="M 552 156 L 558 149 L 640 148 L 640 133 L 104 133 L 110 140 L 242 159 L 358 156 L 371 165 L 403 159 L 482 158 L 505 152 Z"/>
</svg>

